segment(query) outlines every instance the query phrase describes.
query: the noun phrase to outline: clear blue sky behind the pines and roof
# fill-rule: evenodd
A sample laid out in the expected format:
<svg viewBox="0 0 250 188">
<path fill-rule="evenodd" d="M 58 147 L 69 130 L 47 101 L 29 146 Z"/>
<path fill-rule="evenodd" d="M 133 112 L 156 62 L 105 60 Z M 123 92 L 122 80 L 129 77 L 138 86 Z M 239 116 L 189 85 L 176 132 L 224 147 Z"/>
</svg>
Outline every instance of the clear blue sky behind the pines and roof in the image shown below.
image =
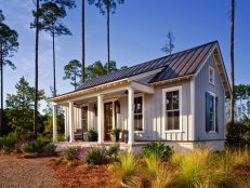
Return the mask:
<svg viewBox="0 0 250 188">
<path fill-rule="evenodd" d="M 64 66 L 81 59 L 81 0 L 67 11 L 63 23 L 73 36 L 58 37 L 56 44 L 57 94 L 74 90 L 63 80 Z M 250 84 L 250 1 L 236 0 L 235 15 L 235 77 L 236 84 Z M 11 58 L 16 70 L 4 67 L 4 96 L 15 93 L 15 84 L 25 77 L 35 84 L 35 30 L 32 0 L 0 0 L 5 24 L 19 37 L 19 49 Z M 110 16 L 110 58 L 117 66 L 132 66 L 165 56 L 160 51 L 170 30 L 174 36 L 174 51 L 218 40 L 229 73 L 231 0 L 124 0 Z M 85 64 L 107 61 L 106 16 L 85 0 Z M 229 75 L 228 75 L 229 77 Z M 39 89 L 51 95 L 52 38 L 41 32 L 39 41 Z M 44 108 L 44 103 L 41 108 Z"/>
</svg>

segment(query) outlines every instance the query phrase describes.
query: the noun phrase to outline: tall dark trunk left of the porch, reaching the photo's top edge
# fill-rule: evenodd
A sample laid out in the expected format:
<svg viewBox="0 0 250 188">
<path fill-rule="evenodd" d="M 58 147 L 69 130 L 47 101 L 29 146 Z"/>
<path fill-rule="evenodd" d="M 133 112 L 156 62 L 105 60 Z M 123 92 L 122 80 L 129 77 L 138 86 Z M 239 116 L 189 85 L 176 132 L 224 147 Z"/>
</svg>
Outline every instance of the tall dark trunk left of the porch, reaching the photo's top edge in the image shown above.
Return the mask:
<svg viewBox="0 0 250 188">
<path fill-rule="evenodd" d="M 35 57 L 35 109 L 34 109 L 34 136 L 37 139 L 38 124 L 38 42 L 39 42 L 39 0 L 37 0 L 37 17 L 36 17 L 36 57 Z"/>
</svg>

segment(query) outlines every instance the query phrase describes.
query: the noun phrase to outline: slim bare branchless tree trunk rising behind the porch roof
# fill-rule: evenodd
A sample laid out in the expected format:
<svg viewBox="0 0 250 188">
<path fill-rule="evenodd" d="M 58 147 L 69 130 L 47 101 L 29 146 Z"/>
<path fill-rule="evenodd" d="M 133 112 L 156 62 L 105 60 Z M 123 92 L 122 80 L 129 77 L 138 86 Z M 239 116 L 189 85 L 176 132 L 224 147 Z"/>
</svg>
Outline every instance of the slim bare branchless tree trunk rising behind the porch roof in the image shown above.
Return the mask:
<svg viewBox="0 0 250 188">
<path fill-rule="evenodd" d="M 81 56 L 81 82 L 83 83 L 85 80 L 85 2 L 82 0 L 81 8 L 81 40 L 82 40 L 82 56 Z"/>
</svg>

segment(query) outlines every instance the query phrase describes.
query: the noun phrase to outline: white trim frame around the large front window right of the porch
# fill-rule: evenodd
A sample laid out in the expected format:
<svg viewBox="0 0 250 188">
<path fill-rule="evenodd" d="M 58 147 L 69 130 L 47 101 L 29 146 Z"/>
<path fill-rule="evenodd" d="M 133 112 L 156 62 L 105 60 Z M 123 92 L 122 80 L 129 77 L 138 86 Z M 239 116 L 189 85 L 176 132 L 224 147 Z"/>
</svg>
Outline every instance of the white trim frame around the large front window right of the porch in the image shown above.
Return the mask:
<svg viewBox="0 0 250 188">
<path fill-rule="evenodd" d="M 173 92 L 179 91 L 179 105 L 180 105 L 180 130 L 166 130 L 166 93 L 167 92 Z M 162 90 L 162 126 L 163 126 L 163 133 L 181 133 L 183 132 L 182 127 L 182 85 L 168 88 Z"/>
</svg>

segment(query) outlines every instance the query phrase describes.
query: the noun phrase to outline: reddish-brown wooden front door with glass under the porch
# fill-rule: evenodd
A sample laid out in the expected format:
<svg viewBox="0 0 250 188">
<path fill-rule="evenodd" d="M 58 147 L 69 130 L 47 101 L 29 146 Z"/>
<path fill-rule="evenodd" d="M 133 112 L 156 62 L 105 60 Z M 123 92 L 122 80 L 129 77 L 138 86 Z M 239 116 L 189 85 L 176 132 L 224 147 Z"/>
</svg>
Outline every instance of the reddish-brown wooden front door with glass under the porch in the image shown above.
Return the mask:
<svg viewBox="0 0 250 188">
<path fill-rule="evenodd" d="M 110 130 L 113 129 L 113 102 L 104 104 L 104 139 L 110 140 Z"/>
</svg>

